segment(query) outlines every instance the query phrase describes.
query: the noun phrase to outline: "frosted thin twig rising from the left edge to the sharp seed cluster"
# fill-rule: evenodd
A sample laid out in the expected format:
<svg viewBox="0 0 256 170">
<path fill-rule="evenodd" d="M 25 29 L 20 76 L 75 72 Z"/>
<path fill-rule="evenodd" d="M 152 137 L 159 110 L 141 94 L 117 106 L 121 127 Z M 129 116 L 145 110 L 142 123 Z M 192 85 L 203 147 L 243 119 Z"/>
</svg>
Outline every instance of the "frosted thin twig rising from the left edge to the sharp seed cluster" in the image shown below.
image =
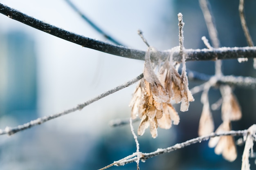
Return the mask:
<svg viewBox="0 0 256 170">
<path fill-rule="evenodd" d="M 40 124 L 43 124 L 44 122 L 46 121 L 49 121 L 49 120 L 52 120 L 52 119 L 55 119 L 57 117 L 61 117 L 63 115 L 67 115 L 68 113 L 72 113 L 72 112 L 75 112 L 77 110 L 81 110 L 83 109 L 85 106 L 88 106 L 89 104 L 92 104 L 93 102 L 96 102 L 97 100 L 99 99 L 102 99 L 103 97 L 106 97 L 112 93 L 115 93 L 123 88 L 126 88 L 132 84 L 134 84 L 135 82 L 139 81 L 141 78 L 143 78 L 143 74 L 137 76 L 135 79 L 132 79 L 124 84 L 122 84 L 121 86 L 117 86 L 115 88 L 112 88 L 110 89 L 109 91 L 106 91 L 90 100 L 88 100 L 87 102 L 84 102 L 82 104 L 78 104 L 77 106 L 73 107 L 73 108 L 70 108 L 68 110 L 65 110 L 61 113 L 57 113 L 57 114 L 54 114 L 54 115 L 49 115 L 49 116 L 45 116 L 45 117 L 41 117 L 41 118 L 38 118 L 36 120 L 32 120 L 26 124 L 23 124 L 23 125 L 19 125 L 17 127 L 14 127 L 14 128 L 10 128 L 10 127 L 6 127 L 5 129 L 0 129 L 0 135 L 4 135 L 4 134 L 8 134 L 8 135 L 13 135 L 14 133 L 16 132 L 19 132 L 19 131 L 22 131 L 22 130 L 26 130 L 28 128 L 31 128 L 33 126 L 36 126 L 36 125 L 40 125 Z"/>
</svg>

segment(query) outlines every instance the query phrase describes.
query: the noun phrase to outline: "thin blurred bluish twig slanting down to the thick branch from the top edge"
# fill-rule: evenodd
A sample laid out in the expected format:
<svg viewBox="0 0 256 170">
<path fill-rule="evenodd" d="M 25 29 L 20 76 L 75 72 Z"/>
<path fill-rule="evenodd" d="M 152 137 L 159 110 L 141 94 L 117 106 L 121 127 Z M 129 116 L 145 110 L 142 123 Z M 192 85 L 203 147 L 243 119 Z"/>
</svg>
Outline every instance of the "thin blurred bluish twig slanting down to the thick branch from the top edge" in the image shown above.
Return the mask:
<svg viewBox="0 0 256 170">
<path fill-rule="evenodd" d="M 65 0 L 67 2 L 67 4 L 74 10 L 76 11 L 76 13 L 78 13 L 83 20 L 85 20 L 88 24 L 90 24 L 90 26 L 92 26 L 93 29 L 95 29 L 98 33 L 102 34 L 106 39 L 110 40 L 111 42 L 113 42 L 114 44 L 120 45 L 120 46 L 124 46 L 123 44 L 121 44 L 119 41 L 115 40 L 114 38 L 112 38 L 112 36 L 108 35 L 105 31 L 103 31 L 101 28 L 99 28 L 99 26 L 97 26 L 96 24 L 94 24 L 94 22 L 92 22 L 92 20 L 90 20 L 84 13 L 82 13 L 82 11 L 80 11 L 70 0 Z"/>
</svg>

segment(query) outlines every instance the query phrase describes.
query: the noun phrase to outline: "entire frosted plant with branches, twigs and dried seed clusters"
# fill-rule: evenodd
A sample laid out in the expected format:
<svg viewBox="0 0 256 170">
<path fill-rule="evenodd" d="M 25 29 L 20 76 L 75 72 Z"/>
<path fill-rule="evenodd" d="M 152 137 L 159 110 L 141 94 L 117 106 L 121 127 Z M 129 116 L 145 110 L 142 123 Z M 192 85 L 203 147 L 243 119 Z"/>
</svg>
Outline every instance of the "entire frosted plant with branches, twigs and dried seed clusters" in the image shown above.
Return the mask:
<svg viewBox="0 0 256 170">
<path fill-rule="evenodd" d="M 81 14 L 74 4 L 72 4 L 69 0 L 66 1 L 70 4 L 70 7 Z M 86 48 L 102 51 L 104 53 L 145 61 L 143 74 L 137 76 L 135 79 L 132 79 L 121 86 L 117 86 L 94 97 L 93 99 L 90 99 L 82 104 L 78 104 L 77 106 L 61 113 L 40 117 L 17 127 L 6 127 L 5 129 L 1 129 L 0 135 L 13 135 L 22 130 L 43 124 L 51 119 L 73 113 L 76 110 L 81 110 L 85 106 L 88 106 L 89 104 L 96 102 L 107 95 L 115 93 L 116 91 L 138 82 L 133 97 L 130 101 L 131 118 L 129 121 L 137 150 L 132 155 L 128 155 L 119 161 L 114 161 L 101 170 L 114 165 L 123 166 L 131 162 L 136 162 L 137 170 L 139 170 L 139 161 L 146 161 L 151 157 L 181 149 L 205 140 L 209 140 L 209 147 L 215 148 L 216 154 L 221 154 L 227 161 L 234 161 L 237 159 L 236 142 L 234 140 L 234 136 L 242 137 L 240 143 L 245 143 L 241 170 L 249 170 L 249 158 L 255 157 L 253 146 L 254 142 L 256 141 L 256 125 L 252 125 L 247 130 L 232 130 L 231 122 L 240 120 L 242 117 L 242 111 L 240 105 L 238 104 L 238 100 L 233 93 L 231 85 L 251 86 L 252 84 L 255 84 L 256 79 L 253 77 L 226 76 L 223 75 L 221 70 L 222 59 L 237 58 L 239 62 L 245 62 L 247 61 L 247 58 L 256 56 L 256 48 L 253 45 L 245 22 L 244 2 L 243 0 L 240 0 L 239 12 L 248 46 L 234 48 L 220 47 L 216 26 L 213 24 L 213 16 L 208 8 L 209 4 L 207 4 L 206 0 L 199 0 L 199 2 L 204 14 L 205 22 L 207 24 L 212 46 L 205 37 L 202 37 L 202 41 L 207 49 L 185 49 L 183 46 L 183 16 L 181 13 L 178 13 L 179 46 L 175 46 L 166 51 L 158 51 L 155 47 L 150 46 L 143 37 L 141 31 L 139 31 L 139 35 L 148 46 L 146 51 L 139 51 L 121 46 L 117 40 L 104 33 L 104 31 L 99 29 L 95 24 L 93 24 L 93 22 L 86 18 L 85 15 L 81 16 L 97 31 L 99 31 L 99 33 L 103 34 L 106 38 L 108 38 L 108 40 L 116 45 L 93 40 L 81 35 L 76 35 L 75 33 L 65 31 L 0 4 L 0 13 L 13 20 L 17 20 L 38 30 L 52 34 L 58 38 L 82 45 Z M 187 76 L 187 72 L 191 73 L 192 78 L 196 78 L 197 73 L 186 70 L 186 61 L 199 60 L 216 60 L 215 75 L 209 77 L 207 82 L 201 84 L 200 86 L 195 86 L 194 88 L 189 89 L 189 78 Z M 254 67 L 255 65 L 256 60 L 254 59 Z M 182 68 L 179 70 L 180 66 Z M 220 124 L 214 132 L 215 127 L 208 92 L 211 87 L 216 87 L 217 84 L 218 90 L 222 96 L 218 102 L 219 104 L 217 104 L 221 106 L 222 124 Z M 137 139 L 137 135 L 143 135 L 147 128 L 149 128 L 152 137 L 156 138 L 158 127 L 169 129 L 172 125 L 178 125 L 180 122 L 180 117 L 178 115 L 179 110 L 175 110 L 173 105 L 180 103 L 180 111 L 185 112 L 189 110 L 189 102 L 194 101 L 193 94 L 201 91 L 201 102 L 203 107 L 199 121 L 199 137 L 180 144 L 175 144 L 174 146 L 170 146 L 168 148 L 159 148 L 150 153 L 143 153 L 139 151 L 139 141 Z M 138 119 L 140 119 L 140 123 L 136 135 L 132 126 L 132 121 Z M 128 124 L 128 122 L 122 121 L 119 122 L 119 124 Z M 115 125 L 118 126 L 118 124 Z"/>
</svg>

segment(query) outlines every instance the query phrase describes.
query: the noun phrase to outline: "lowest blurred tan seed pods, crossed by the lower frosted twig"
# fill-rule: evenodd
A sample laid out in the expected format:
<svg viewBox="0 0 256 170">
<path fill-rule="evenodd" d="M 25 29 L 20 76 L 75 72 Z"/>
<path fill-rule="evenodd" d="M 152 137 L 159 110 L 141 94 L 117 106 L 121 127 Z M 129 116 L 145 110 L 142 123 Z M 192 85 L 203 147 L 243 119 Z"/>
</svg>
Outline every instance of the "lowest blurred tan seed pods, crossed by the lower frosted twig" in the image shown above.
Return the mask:
<svg viewBox="0 0 256 170">
<path fill-rule="evenodd" d="M 216 130 L 216 132 L 227 132 L 231 130 L 230 121 L 224 121 Z M 227 161 L 234 161 L 237 157 L 236 145 L 234 137 L 232 136 L 221 136 L 213 137 L 209 141 L 209 147 L 214 149 L 217 155 L 222 154 L 223 158 Z"/>
</svg>

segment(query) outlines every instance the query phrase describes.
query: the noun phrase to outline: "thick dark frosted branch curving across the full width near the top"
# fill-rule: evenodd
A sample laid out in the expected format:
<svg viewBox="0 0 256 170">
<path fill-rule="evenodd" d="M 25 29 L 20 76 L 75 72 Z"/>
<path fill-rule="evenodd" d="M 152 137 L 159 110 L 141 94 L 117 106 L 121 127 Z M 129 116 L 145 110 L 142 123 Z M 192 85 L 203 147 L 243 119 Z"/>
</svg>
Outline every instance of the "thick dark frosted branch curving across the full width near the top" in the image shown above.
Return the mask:
<svg viewBox="0 0 256 170">
<path fill-rule="evenodd" d="M 29 25 L 35 29 L 41 30 L 45 33 L 49 33 L 63 40 L 79 44 L 83 47 L 94 49 L 97 51 L 102 51 L 104 53 L 109 53 L 112 55 L 117 55 L 120 57 L 127 57 L 137 60 L 144 60 L 145 51 L 130 49 L 124 46 L 117 46 L 110 43 L 93 40 L 91 38 L 84 37 L 82 35 L 77 35 L 75 33 L 60 29 L 51 24 L 47 24 L 40 20 L 37 20 L 31 16 L 12 9 L 0 3 L 0 13 L 8 16 L 13 20 L 22 22 L 23 24 Z M 235 59 L 240 57 L 255 57 L 256 47 L 222 47 L 217 49 L 183 49 L 186 53 L 186 61 L 199 61 L 199 60 L 222 60 L 222 59 Z M 170 51 L 159 51 L 157 53 L 158 57 L 165 59 L 168 57 Z M 180 56 L 180 51 L 174 51 L 173 60 L 181 62 L 182 56 Z"/>
</svg>

